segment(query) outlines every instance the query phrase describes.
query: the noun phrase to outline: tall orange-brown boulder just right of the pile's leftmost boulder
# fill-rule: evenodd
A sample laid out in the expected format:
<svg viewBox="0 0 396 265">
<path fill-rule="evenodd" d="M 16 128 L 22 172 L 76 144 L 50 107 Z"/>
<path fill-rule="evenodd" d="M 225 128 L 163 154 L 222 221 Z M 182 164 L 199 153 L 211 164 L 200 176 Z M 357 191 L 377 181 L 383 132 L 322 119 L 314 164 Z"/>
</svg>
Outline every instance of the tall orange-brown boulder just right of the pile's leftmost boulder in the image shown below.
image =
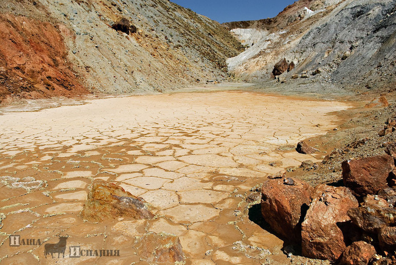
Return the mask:
<svg viewBox="0 0 396 265">
<path fill-rule="evenodd" d="M 344 233 L 350 218 L 347 211 L 358 202 L 346 187 L 320 184 L 315 187 L 310 208 L 301 224 L 302 254 L 306 257 L 336 261 L 347 248 Z"/>
</svg>

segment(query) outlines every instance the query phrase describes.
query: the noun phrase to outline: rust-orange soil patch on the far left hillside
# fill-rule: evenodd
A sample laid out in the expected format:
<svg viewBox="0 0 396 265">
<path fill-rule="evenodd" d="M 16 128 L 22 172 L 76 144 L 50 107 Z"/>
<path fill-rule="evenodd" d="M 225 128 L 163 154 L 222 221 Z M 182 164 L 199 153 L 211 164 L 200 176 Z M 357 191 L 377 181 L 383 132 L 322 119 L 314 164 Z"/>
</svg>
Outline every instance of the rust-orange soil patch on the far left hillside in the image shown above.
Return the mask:
<svg viewBox="0 0 396 265">
<path fill-rule="evenodd" d="M 0 14 L 0 103 L 87 94 L 67 62 L 62 25 Z M 67 33 L 67 32 L 66 32 Z"/>
</svg>

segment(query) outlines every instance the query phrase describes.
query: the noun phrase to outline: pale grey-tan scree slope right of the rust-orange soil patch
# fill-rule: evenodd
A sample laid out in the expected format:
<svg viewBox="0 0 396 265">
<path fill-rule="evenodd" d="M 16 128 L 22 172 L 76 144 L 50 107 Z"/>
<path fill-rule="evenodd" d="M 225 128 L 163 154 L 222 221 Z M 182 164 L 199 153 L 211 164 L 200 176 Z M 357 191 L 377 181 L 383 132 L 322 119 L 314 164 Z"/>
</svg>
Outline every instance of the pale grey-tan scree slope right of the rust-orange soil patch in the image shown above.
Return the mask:
<svg viewBox="0 0 396 265">
<path fill-rule="evenodd" d="M 4 0 L 0 15 L 54 25 L 74 73 L 94 92 L 161 92 L 224 80 L 226 59 L 242 50 L 218 22 L 167 0 Z M 137 32 L 112 29 L 122 17 Z"/>
</svg>

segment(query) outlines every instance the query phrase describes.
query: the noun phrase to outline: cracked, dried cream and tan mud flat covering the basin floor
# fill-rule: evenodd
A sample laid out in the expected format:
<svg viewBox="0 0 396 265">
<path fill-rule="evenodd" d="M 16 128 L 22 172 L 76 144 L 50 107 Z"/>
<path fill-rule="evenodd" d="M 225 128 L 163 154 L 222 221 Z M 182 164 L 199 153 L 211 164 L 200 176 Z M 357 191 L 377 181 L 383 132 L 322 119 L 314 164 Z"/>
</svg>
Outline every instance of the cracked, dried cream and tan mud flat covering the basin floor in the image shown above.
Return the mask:
<svg viewBox="0 0 396 265">
<path fill-rule="evenodd" d="M 255 223 L 259 211 L 248 210 L 246 196 L 267 174 L 319 161 L 279 147 L 325 134 L 337 124 L 329 113 L 349 107 L 227 91 L 95 99 L 5 113 L 0 260 L 145 263 L 131 242 L 152 231 L 177 235 L 187 264 L 289 263 L 283 241 Z M 142 197 L 157 209 L 156 217 L 83 222 L 79 213 L 98 179 Z M 12 247 L 10 235 L 41 244 Z M 44 245 L 57 243 L 58 236 L 68 236 L 65 258 L 45 257 Z M 119 250 L 120 256 L 68 258 L 69 246 Z"/>
</svg>

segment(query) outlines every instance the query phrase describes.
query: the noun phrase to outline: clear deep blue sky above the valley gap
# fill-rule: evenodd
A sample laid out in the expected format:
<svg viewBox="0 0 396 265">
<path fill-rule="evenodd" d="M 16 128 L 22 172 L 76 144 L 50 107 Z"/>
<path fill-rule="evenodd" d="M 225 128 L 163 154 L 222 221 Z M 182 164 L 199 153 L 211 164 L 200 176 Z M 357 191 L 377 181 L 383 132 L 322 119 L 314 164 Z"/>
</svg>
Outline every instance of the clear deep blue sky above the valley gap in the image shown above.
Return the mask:
<svg viewBox="0 0 396 265">
<path fill-rule="evenodd" d="M 295 0 L 171 0 L 220 23 L 274 17 Z"/>
</svg>

